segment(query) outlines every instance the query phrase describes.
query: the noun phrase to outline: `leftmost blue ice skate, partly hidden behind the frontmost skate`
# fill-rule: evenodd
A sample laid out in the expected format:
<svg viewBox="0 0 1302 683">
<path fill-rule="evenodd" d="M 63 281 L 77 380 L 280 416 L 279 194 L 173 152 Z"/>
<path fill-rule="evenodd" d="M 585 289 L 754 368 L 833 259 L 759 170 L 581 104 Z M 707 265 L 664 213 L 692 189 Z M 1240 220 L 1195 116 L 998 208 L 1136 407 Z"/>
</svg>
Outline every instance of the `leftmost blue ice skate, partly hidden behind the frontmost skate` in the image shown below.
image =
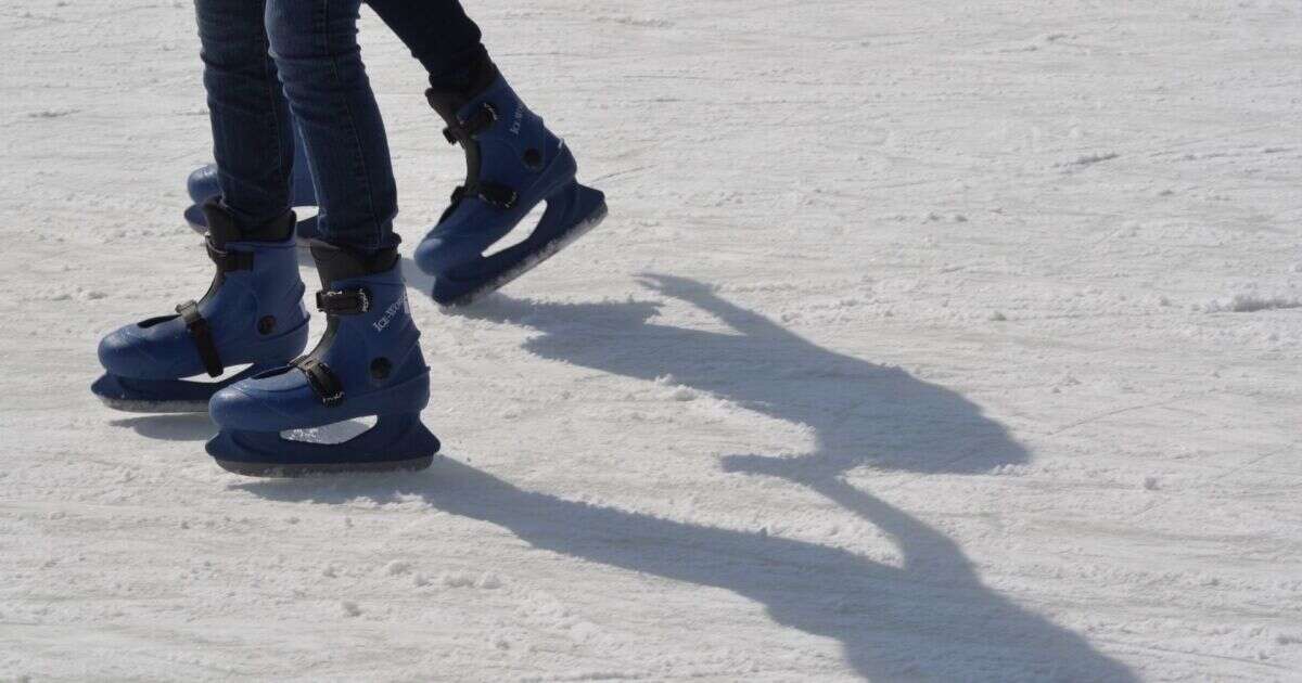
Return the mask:
<svg viewBox="0 0 1302 683">
<path fill-rule="evenodd" d="M 204 204 L 208 256 L 217 267 L 198 302 L 177 315 L 120 328 L 99 342 L 105 373 L 91 392 L 132 412 L 203 412 L 219 389 L 284 364 L 307 346 L 303 282 L 286 213 L 258 230 L 241 232 L 216 200 Z M 228 367 L 251 364 L 219 382 Z"/>
</svg>

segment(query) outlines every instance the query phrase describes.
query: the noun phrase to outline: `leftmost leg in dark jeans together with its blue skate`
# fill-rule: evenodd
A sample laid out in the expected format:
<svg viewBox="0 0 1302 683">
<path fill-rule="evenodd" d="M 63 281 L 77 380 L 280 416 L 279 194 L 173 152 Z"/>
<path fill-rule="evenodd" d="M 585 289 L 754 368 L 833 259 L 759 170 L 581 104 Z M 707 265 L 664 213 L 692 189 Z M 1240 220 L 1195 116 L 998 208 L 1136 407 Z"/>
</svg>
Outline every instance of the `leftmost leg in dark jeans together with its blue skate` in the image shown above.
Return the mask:
<svg viewBox="0 0 1302 683">
<path fill-rule="evenodd" d="M 289 121 L 267 59 L 262 5 L 198 0 L 204 86 L 224 198 L 210 199 L 208 256 L 216 276 L 177 315 L 125 325 L 99 343 L 105 373 L 91 390 L 111 406 L 206 410 L 221 386 L 280 366 L 307 345 L 303 284 L 289 211 Z M 243 373 L 216 382 L 232 366 Z"/>
</svg>

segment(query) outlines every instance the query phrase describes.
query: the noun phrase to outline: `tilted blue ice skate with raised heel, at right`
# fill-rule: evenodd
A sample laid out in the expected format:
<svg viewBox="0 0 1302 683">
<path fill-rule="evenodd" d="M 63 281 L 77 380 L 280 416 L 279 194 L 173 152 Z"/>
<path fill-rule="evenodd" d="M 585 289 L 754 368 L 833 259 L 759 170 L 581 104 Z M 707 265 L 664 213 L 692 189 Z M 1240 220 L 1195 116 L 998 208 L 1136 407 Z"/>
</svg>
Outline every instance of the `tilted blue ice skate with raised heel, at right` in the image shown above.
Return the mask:
<svg viewBox="0 0 1302 683">
<path fill-rule="evenodd" d="M 543 126 L 491 64 L 475 95 L 426 91 L 448 127 L 448 142 L 466 154 L 466 183 L 415 250 L 434 276 L 434 299 L 464 306 L 519 277 L 605 217 L 605 195 L 574 180 L 565 143 Z M 539 202 L 547 203 L 527 239 L 486 255 Z"/>
</svg>

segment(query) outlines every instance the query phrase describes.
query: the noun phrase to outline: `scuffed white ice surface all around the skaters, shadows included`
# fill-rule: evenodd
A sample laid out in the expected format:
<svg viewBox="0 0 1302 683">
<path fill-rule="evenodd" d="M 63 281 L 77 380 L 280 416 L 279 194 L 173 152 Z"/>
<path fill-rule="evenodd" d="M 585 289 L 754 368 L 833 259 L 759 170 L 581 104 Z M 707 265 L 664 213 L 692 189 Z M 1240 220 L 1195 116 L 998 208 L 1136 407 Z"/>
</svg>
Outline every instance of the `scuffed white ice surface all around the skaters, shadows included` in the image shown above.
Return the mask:
<svg viewBox="0 0 1302 683">
<path fill-rule="evenodd" d="M 0 10 L 0 678 L 1302 680 L 1295 0 L 469 5 L 612 216 L 306 481 L 87 392 L 210 277 L 191 7 Z"/>
</svg>

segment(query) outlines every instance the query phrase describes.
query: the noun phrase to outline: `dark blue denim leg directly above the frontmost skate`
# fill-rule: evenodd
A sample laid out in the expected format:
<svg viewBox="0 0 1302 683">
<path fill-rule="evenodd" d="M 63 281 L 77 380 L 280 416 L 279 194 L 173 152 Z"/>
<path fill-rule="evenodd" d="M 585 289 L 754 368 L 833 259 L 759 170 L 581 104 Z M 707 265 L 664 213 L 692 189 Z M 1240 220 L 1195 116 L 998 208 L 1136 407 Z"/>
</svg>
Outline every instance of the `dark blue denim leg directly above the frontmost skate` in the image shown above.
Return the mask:
<svg viewBox="0 0 1302 683">
<path fill-rule="evenodd" d="M 322 235 L 374 251 L 397 246 L 397 190 L 384 121 L 357 44 L 361 0 L 268 0 L 267 34 L 307 147 Z"/>
</svg>

